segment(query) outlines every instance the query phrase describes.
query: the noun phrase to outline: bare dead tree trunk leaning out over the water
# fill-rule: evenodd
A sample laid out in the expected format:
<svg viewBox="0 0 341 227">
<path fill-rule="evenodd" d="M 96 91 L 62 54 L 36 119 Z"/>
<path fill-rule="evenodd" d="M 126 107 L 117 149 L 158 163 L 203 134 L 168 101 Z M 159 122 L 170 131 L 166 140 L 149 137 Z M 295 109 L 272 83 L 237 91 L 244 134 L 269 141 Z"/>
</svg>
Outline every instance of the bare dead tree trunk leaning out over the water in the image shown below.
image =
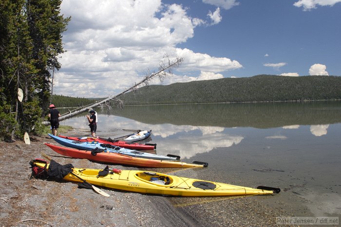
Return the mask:
<svg viewBox="0 0 341 227">
<path fill-rule="evenodd" d="M 179 57 L 176 57 L 174 61 L 170 61 L 169 57 L 166 55 L 166 61 L 162 61 L 160 63 L 160 66 L 159 66 L 159 71 L 157 72 L 153 72 L 152 74 L 147 74 L 143 80 L 141 80 L 140 82 L 138 82 L 137 84 L 135 83 L 132 87 L 126 89 L 125 91 L 122 91 L 121 93 L 119 94 L 116 94 L 116 95 L 109 95 L 108 98 L 100 101 L 100 102 L 96 102 L 94 104 L 91 104 L 91 105 L 87 105 L 87 106 L 83 106 L 83 107 L 80 107 L 77 108 L 76 110 L 72 110 L 70 111 L 69 113 L 67 114 L 64 114 L 62 116 L 59 117 L 59 121 L 63 121 L 65 119 L 68 119 L 68 118 L 71 118 L 79 113 L 82 113 L 82 112 L 86 112 L 88 111 L 90 108 L 94 108 L 98 105 L 101 105 L 101 104 L 104 104 L 106 103 L 107 101 L 110 101 L 110 100 L 113 100 L 115 102 L 119 102 L 119 104 L 122 105 L 122 101 L 119 100 L 117 97 L 119 97 L 120 95 L 123 95 L 124 93 L 127 93 L 128 91 L 133 91 L 133 90 L 136 90 L 138 87 L 140 86 L 147 86 L 150 84 L 151 80 L 155 77 L 158 77 L 159 80 L 162 82 L 164 78 L 166 78 L 167 76 L 170 76 L 172 74 L 172 69 L 174 68 L 178 68 L 182 61 L 183 61 L 183 58 L 179 58 Z M 49 125 L 50 122 L 42 122 L 42 124 L 44 125 Z"/>
</svg>

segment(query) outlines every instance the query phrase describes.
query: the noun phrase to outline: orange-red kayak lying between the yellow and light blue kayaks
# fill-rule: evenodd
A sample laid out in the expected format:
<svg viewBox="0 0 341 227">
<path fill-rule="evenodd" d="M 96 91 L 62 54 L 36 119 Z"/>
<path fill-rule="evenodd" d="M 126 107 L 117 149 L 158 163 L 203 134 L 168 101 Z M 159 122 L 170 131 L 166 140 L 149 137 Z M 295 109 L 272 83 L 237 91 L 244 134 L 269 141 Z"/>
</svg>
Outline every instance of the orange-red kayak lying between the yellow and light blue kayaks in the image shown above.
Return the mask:
<svg viewBox="0 0 341 227">
<path fill-rule="evenodd" d="M 193 161 L 192 163 L 186 163 L 182 161 L 167 161 L 167 160 L 156 160 L 150 158 L 131 157 L 118 153 L 111 152 L 100 152 L 92 154 L 92 151 L 77 150 L 69 147 L 61 147 L 50 143 L 44 143 L 52 150 L 60 155 L 75 158 L 86 158 L 88 160 L 115 163 L 121 165 L 130 165 L 135 167 L 145 168 L 188 168 L 188 167 L 207 167 L 206 162 Z"/>
</svg>

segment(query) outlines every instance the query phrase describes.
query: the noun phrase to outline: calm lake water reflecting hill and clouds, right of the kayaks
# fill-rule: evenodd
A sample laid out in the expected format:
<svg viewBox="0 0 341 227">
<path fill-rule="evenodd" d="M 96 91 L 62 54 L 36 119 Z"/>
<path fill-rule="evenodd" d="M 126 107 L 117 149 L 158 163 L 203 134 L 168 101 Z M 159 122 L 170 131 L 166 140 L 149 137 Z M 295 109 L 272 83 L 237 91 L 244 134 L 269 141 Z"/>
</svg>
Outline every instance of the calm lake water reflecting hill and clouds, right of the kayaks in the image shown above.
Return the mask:
<svg viewBox="0 0 341 227">
<path fill-rule="evenodd" d="M 341 214 L 341 101 L 126 106 L 97 113 L 99 137 L 131 133 L 117 129 L 152 130 L 157 154 L 209 164 L 174 175 L 279 187 L 276 196 L 254 197 L 293 216 Z M 89 130 L 85 114 L 61 124 Z"/>
</svg>

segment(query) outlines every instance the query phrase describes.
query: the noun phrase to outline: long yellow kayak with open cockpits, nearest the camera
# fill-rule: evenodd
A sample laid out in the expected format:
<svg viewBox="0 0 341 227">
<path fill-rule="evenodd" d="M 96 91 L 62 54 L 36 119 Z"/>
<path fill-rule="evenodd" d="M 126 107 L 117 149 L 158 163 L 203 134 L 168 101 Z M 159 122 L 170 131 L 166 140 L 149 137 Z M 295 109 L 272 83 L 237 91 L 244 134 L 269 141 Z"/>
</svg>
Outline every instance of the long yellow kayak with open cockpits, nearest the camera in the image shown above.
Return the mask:
<svg viewBox="0 0 341 227">
<path fill-rule="evenodd" d="M 45 163 L 35 162 L 39 167 Z M 47 165 L 48 169 L 49 165 Z M 102 170 L 73 168 L 73 174 L 64 177 L 65 180 L 82 182 L 130 192 L 165 194 L 174 196 L 230 196 L 230 195 L 259 195 L 278 193 L 279 189 L 263 187 L 253 189 L 213 181 L 192 179 L 187 177 L 166 175 L 156 172 L 139 170 L 122 170 L 120 173 L 109 171 L 107 175 L 98 176 Z M 260 187 L 258 187 L 260 188 Z M 274 191 L 271 191 L 274 190 Z"/>
</svg>

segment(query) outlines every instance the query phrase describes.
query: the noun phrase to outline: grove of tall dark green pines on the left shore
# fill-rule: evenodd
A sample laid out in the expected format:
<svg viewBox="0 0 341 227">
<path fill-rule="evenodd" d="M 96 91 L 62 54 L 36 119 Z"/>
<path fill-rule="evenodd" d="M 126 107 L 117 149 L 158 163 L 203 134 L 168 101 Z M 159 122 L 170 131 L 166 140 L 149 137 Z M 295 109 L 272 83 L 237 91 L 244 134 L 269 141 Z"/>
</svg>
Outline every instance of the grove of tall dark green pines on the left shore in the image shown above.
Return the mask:
<svg viewBox="0 0 341 227">
<path fill-rule="evenodd" d="M 0 1 L 0 140 L 39 133 L 50 102 L 50 78 L 60 69 L 62 32 L 70 17 L 61 0 Z M 18 101 L 18 88 L 23 91 Z"/>
</svg>

